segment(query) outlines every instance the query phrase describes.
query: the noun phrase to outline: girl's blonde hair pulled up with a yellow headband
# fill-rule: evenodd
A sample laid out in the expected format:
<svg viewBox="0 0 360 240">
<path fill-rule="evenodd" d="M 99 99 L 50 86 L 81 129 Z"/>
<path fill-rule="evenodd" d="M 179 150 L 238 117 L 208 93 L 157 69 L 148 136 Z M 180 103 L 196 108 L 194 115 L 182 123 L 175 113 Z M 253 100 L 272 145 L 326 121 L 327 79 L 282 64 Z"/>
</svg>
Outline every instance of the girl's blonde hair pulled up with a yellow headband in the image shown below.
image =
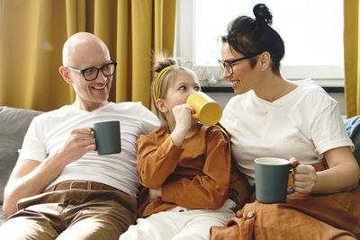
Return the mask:
<svg viewBox="0 0 360 240">
<path fill-rule="evenodd" d="M 168 69 L 168 68 L 170 68 L 170 69 Z M 175 79 L 177 78 L 177 76 L 179 74 L 182 74 L 182 73 L 189 74 L 189 75 L 193 76 L 193 78 L 196 81 L 197 81 L 197 76 L 195 75 L 193 70 L 191 70 L 190 68 L 187 68 L 187 67 L 179 66 L 178 62 L 175 58 L 167 58 L 164 53 L 157 54 L 155 56 L 153 70 L 155 72 L 155 77 L 151 84 L 151 99 L 152 99 L 152 102 L 154 103 L 154 106 L 156 109 L 157 118 L 159 120 L 161 120 L 162 127 L 168 127 L 164 113 L 157 109 L 157 104 L 156 104 L 157 99 L 165 99 L 166 98 L 166 92 L 167 92 L 169 85 L 175 82 Z M 162 75 L 164 73 L 163 70 L 166 70 L 165 75 L 158 77 L 159 75 Z M 163 72 L 161 72 L 161 71 L 163 71 Z M 159 79 L 159 78 L 161 78 L 161 79 Z M 160 85 L 157 89 L 158 84 L 160 84 Z"/>
</svg>

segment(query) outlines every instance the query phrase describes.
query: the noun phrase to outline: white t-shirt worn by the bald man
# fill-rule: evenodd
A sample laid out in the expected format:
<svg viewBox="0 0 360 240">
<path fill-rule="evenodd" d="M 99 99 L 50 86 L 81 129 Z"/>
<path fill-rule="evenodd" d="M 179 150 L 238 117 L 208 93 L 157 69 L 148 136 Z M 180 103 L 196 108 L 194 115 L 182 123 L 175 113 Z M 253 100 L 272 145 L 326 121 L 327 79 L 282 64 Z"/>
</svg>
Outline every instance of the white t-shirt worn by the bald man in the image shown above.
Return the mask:
<svg viewBox="0 0 360 240">
<path fill-rule="evenodd" d="M 139 134 L 148 134 L 160 126 L 157 117 L 141 102 L 110 102 L 95 111 L 66 105 L 45 112 L 31 121 L 18 161 L 32 159 L 42 162 L 64 146 L 72 129 L 91 127 L 95 122 L 106 120 L 120 120 L 121 153 L 99 156 L 96 151 L 87 152 L 67 164 L 48 188 L 58 182 L 83 180 L 102 182 L 136 196 L 139 187 L 136 141 Z"/>
</svg>

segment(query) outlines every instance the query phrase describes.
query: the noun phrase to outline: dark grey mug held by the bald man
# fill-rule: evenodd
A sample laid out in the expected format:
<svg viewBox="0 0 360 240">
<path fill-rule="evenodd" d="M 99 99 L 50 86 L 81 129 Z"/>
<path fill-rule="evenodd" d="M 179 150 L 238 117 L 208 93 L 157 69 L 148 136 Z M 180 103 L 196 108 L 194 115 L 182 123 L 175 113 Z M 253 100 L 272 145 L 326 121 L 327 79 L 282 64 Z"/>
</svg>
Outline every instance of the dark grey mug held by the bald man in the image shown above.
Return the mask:
<svg viewBox="0 0 360 240">
<path fill-rule="evenodd" d="M 96 122 L 91 127 L 94 131 L 96 151 L 98 155 L 116 154 L 121 152 L 120 121 Z"/>
</svg>

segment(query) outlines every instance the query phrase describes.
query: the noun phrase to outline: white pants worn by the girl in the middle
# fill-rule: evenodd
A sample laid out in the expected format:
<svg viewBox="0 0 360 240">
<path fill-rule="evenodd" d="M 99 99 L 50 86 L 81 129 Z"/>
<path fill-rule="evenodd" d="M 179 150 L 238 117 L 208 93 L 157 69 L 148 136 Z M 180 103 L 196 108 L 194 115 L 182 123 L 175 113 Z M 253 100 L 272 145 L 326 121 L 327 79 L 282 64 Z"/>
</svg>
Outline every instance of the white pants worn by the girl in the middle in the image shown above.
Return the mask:
<svg viewBox="0 0 360 240">
<path fill-rule="evenodd" d="M 157 212 L 148 218 L 138 218 L 119 240 L 192 240 L 210 238 L 211 226 L 225 226 L 236 204 L 226 200 L 220 209 L 186 209 L 175 207 Z"/>
</svg>

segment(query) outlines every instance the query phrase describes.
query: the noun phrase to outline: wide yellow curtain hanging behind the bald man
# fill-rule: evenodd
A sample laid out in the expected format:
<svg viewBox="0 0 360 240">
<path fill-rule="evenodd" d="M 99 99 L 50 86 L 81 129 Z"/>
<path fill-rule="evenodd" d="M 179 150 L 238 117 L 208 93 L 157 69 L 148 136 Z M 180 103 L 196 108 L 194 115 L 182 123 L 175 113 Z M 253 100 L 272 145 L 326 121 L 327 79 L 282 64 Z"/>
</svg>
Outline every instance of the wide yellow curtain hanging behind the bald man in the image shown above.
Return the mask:
<svg viewBox="0 0 360 240">
<path fill-rule="evenodd" d="M 77 31 L 99 36 L 118 62 L 109 100 L 149 107 L 151 54 L 173 54 L 175 0 L 1 0 L 0 105 L 50 111 L 73 102 L 58 67 Z"/>
</svg>

